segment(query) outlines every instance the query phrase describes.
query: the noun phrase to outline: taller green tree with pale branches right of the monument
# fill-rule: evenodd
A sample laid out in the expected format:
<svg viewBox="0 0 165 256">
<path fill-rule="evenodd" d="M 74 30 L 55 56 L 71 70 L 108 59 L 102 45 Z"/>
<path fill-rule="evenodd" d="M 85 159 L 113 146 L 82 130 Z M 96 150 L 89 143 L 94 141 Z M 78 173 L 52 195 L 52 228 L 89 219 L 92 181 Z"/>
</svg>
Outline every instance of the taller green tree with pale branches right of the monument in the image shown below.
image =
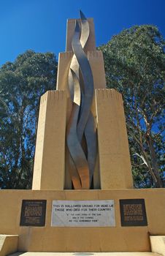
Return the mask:
<svg viewBox="0 0 165 256">
<path fill-rule="evenodd" d="M 164 185 L 164 38 L 156 26 L 133 26 L 104 53 L 107 85 L 123 94 L 135 187 Z"/>
</svg>

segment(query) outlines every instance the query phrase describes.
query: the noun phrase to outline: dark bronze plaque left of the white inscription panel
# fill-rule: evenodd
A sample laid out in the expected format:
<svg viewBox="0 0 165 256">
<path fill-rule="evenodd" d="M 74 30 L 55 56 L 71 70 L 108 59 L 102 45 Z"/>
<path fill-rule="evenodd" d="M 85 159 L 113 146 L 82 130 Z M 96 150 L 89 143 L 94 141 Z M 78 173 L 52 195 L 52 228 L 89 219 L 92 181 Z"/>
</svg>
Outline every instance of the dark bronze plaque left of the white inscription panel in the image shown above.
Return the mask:
<svg viewBox="0 0 165 256">
<path fill-rule="evenodd" d="M 47 200 L 23 200 L 20 226 L 45 226 Z"/>
</svg>

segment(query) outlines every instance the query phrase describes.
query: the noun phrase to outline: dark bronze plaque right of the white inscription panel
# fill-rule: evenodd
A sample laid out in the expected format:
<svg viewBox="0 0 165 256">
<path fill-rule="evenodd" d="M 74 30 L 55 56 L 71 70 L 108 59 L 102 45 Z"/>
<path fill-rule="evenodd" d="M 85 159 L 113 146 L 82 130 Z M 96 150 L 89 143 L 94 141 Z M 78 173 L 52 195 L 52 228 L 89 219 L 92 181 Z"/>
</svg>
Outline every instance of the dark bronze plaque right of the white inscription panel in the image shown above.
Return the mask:
<svg viewBox="0 0 165 256">
<path fill-rule="evenodd" d="M 120 200 L 121 226 L 147 226 L 144 199 Z"/>
</svg>

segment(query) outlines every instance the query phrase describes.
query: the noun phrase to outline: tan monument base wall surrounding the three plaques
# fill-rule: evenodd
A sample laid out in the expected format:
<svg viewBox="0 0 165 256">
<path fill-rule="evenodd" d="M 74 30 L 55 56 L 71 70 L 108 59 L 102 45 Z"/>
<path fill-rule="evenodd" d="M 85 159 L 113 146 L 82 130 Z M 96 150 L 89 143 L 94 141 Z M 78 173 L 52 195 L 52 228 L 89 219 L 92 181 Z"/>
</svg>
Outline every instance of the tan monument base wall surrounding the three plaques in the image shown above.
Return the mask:
<svg viewBox="0 0 165 256">
<path fill-rule="evenodd" d="M 120 200 L 131 199 L 144 200 L 145 226 L 122 222 Z M 46 200 L 44 227 L 20 226 L 23 200 Z M 52 227 L 53 200 L 114 200 L 115 227 Z M 0 233 L 19 236 L 18 252 L 150 252 L 149 235 L 165 235 L 164 189 L 1 190 L 0 205 Z"/>
</svg>

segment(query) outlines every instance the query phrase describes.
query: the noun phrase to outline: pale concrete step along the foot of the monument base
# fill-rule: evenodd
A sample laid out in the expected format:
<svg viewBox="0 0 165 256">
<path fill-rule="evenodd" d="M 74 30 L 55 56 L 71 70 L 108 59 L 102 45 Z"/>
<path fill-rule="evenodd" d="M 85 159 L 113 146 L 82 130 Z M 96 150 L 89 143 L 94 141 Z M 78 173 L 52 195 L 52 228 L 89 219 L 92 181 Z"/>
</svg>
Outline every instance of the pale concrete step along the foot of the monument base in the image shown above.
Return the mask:
<svg viewBox="0 0 165 256">
<path fill-rule="evenodd" d="M 154 252 L 16 252 L 8 256 L 161 256 Z"/>
</svg>

